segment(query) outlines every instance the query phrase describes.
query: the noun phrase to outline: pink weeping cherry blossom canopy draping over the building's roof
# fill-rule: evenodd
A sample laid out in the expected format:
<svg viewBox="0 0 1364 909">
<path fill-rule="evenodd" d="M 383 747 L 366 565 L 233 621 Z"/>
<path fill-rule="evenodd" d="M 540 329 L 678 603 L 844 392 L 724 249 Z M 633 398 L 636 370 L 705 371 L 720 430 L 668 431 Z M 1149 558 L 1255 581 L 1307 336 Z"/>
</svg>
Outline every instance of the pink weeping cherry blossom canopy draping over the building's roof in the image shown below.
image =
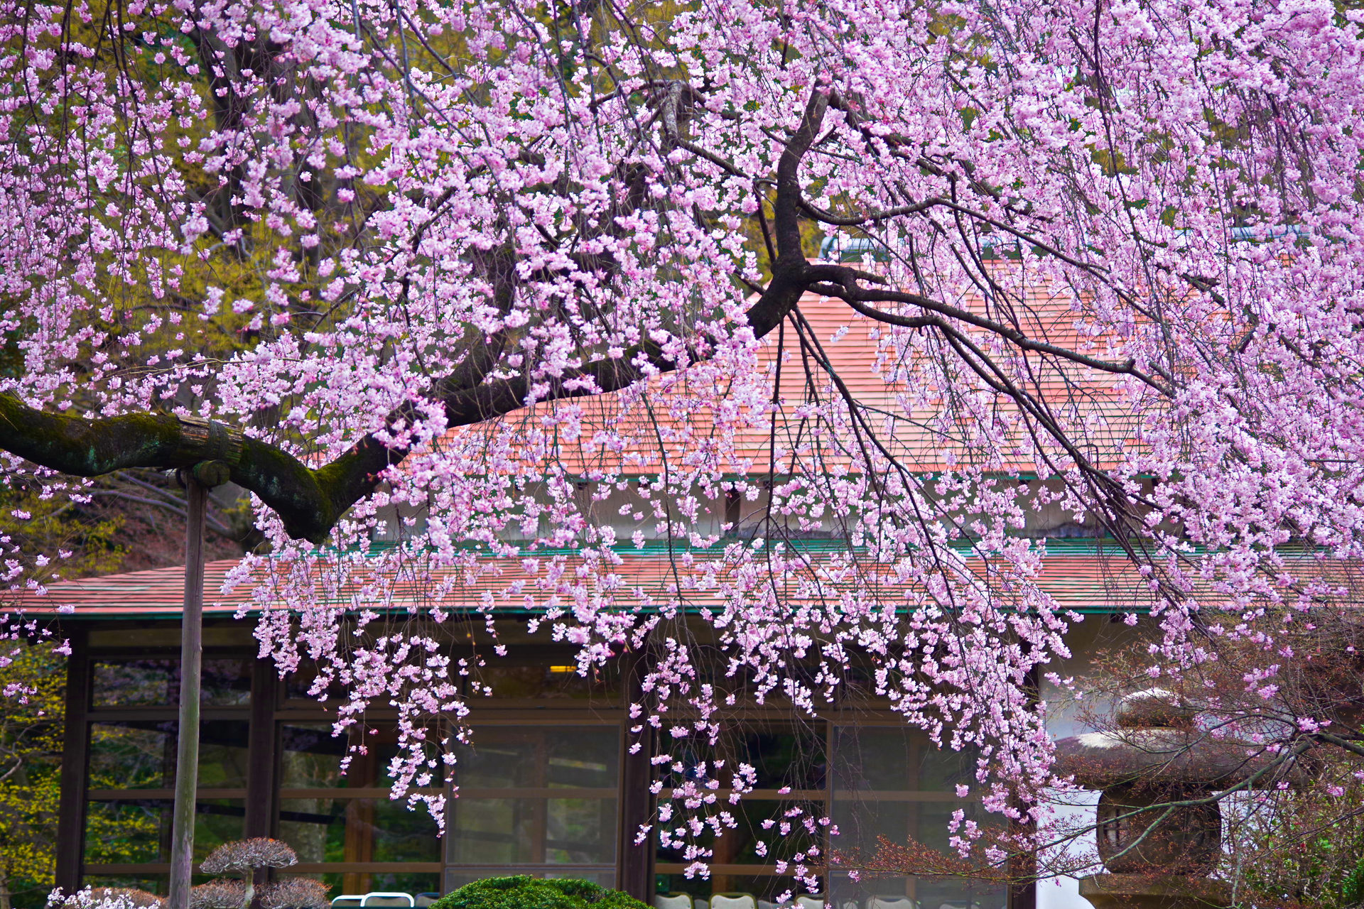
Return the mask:
<svg viewBox="0 0 1364 909">
<path fill-rule="evenodd" d="M 582 672 L 649 651 L 636 732 L 812 711 L 857 660 L 1023 827 L 1069 621 L 1028 514 L 1127 560 L 1161 673 L 1349 596 L 1357 11 L 5 0 L 0 41 L 8 476 L 228 465 L 274 546 L 237 579 L 286 605 L 262 649 L 348 721 L 400 705 L 400 789 L 462 715 L 427 619 L 496 559 L 527 576 L 481 606 L 529 598 Z M 606 510 L 675 583 L 632 587 Z M 396 579 L 420 602 L 376 621 Z"/>
</svg>

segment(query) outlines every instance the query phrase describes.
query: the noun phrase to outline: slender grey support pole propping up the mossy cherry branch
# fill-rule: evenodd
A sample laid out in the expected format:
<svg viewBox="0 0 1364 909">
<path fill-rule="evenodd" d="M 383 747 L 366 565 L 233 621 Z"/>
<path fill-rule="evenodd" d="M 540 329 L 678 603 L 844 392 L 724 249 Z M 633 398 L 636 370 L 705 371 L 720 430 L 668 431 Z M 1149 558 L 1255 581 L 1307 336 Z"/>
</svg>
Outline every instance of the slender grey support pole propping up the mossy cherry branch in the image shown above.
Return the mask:
<svg viewBox="0 0 1364 909">
<path fill-rule="evenodd" d="M 184 619 L 180 631 L 180 726 L 170 827 L 168 909 L 188 909 L 194 874 L 194 808 L 199 775 L 199 668 L 203 658 L 203 500 L 205 487 L 186 470 L 188 521 L 184 540 Z"/>
</svg>

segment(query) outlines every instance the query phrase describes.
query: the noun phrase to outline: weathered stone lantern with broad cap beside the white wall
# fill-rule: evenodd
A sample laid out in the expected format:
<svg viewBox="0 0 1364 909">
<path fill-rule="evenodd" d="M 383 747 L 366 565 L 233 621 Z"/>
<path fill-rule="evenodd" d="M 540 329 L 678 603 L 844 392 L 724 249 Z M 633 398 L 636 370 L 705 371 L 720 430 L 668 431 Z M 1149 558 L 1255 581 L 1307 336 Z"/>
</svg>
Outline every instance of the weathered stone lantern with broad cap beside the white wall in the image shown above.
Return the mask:
<svg viewBox="0 0 1364 909">
<path fill-rule="evenodd" d="M 1080 880 L 1095 909 L 1226 909 L 1232 887 L 1207 875 L 1222 852 L 1222 812 L 1198 801 L 1255 773 L 1241 743 L 1211 740 L 1169 692 L 1129 695 L 1117 729 L 1063 739 L 1057 769 L 1099 789 L 1103 874 Z"/>
</svg>

